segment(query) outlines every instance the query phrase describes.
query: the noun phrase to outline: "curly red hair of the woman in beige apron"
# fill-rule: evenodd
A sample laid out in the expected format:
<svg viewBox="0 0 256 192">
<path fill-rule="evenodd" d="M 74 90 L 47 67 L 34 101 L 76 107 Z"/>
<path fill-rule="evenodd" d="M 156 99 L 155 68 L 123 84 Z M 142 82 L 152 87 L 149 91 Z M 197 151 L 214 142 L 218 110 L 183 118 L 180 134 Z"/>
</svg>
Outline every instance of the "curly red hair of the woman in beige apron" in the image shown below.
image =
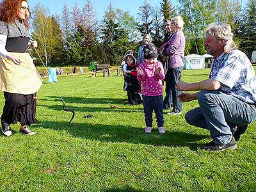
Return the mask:
<svg viewBox="0 0 256 192">
<path fill-rule="evenodd" d="M 6 23 L 13 23 L 19 13 L 22 1 L 27 0 L 3 0 L 0 4 L 0 20 Z M 23 20 L 26 28 L 29 28 L 28 19 Z"/>
</svg>

